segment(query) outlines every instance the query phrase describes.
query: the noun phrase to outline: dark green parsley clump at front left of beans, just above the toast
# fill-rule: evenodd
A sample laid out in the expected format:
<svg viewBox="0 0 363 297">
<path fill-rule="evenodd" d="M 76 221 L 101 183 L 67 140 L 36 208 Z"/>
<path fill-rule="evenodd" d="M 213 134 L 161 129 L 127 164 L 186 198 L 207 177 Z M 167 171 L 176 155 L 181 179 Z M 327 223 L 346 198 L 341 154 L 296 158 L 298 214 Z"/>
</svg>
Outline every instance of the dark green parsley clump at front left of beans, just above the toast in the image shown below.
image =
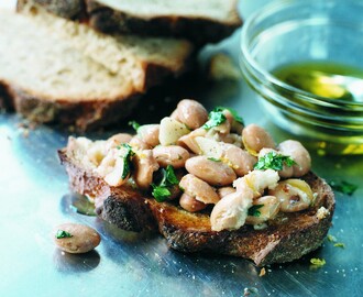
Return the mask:
<svg viewBox="0 0 363 297">
<path fill-rule="evenodd" d="M 152 195 L 157 202 L 163 202 L 169 198 L 172 195 L 170 188 L 179 184 L 179 180 L 176 177 L 174 167 L 172 165 L 167 165 L 165 169 L 162 168 L 162 175 L 163 178 L 158 185 L 152 184 Z"/>
</svg>

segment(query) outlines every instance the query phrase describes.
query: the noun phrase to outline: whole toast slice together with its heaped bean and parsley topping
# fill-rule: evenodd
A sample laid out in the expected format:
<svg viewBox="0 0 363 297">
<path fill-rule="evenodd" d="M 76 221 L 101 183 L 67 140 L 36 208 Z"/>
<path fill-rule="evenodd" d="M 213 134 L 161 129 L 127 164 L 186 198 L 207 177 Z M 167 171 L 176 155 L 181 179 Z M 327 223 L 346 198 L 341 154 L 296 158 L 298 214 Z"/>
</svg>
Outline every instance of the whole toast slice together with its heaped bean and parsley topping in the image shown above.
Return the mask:
<svg viewBox="0 0 363 297">
<path fill-rule="evenodd" d="M 190 100 L 176 111 L 136 135 L 69 138 L 58 154 L 72 191 L 94 199 L 103 220 L 129 231 L 158 231 L 182 252 L 241 256 L 263 266 L 322 244 L 334 195 L 311 173 L 299 142 L 275 145 L 261 128 L 233 123 L 229 110 L 215 112 L 206 125 L 206 117 L 195 121 L 204 112 Z M 278 160 L 289 165 L 256 168 L 263 160 L 272 167 Z"/>
</svg>

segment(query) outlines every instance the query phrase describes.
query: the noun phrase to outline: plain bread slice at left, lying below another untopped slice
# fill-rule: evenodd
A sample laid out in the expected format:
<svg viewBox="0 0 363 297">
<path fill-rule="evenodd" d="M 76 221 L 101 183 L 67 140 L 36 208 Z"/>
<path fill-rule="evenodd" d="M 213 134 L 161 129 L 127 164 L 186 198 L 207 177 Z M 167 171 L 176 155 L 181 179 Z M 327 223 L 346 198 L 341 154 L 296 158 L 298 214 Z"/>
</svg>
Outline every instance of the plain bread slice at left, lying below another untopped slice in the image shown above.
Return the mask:
<svg viewBox="0 0 363 297">
<path fill-rule="evenodd" d="M 35 9 L 1 11 L 0 22 L 2 106 L 36 122 L 78 130 L 114 122 L 193 58 L 186 41 L 109 36 Z"/>
</svg>

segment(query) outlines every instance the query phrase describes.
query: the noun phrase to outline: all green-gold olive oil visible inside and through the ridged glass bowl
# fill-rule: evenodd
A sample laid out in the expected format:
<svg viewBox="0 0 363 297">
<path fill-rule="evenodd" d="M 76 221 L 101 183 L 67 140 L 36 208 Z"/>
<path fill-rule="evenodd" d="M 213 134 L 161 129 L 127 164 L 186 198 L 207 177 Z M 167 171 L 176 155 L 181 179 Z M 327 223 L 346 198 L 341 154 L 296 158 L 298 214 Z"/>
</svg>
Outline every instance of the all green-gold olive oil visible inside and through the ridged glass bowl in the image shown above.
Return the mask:
<svg viewBox="0 0 363 297">
<path fill-rule="evenodd" d="M 351 110 L 344 109 L 329 109 L 331 118 L 316 119 L 311 114 L 304 114 L 304 118 L 299 117 L 298 112 L 288 112 L 284 114 L 286 120 L 298 123 L 301 129 L 307 129 L 309 135 L 314 135 L 308 142 L 310 150 L 317 151 L 318 154 L 340 154 L 340 155 L 353 155 L 363 154 L 363 134 L 359 133 L 359 127 L 362 124 L 356 120 L 354 124 L 352 122 L 343 124 L 339 122 L 342 130 L 339 130 L 330 125 L 334 125 L 336 121 L 344 117 L 351 117 L 354 112 L 359 118 L 360 107 L 355 107 L 354 103 L 363 102 L 363 69 L 358 67 L 346 66 L 342 64 L 329 63 L 329 62 L 302 62 L 283 65 L 275 68 L 272 74 L 279 80 L 296 87 L 300 90 L 324 97 L 326 99 L 343 100 L 350 105 Z M 316 106 L 311 101 L 304 101 L 302 98 L 292 96 L 290 100 L 299 100 L 299 105 L 305 108 L 320 113 L 322 111 L 321 106 Z M 287 110 L 290 108 L 287 107 Z M 329 114 L 326 112 L 326 116 Z M 363 117 L 363 114 L 362 114 Z M 317 125 L 311 124 L 318 121 Z M 349 132 L 349 124 L 355 128 Z M 362 129 L 362 128 L 360 128 Z M 345 132 L 342 132 L 345 131 Z M 316 141 L 312 141 L 316 139 Z"/>
</svg>

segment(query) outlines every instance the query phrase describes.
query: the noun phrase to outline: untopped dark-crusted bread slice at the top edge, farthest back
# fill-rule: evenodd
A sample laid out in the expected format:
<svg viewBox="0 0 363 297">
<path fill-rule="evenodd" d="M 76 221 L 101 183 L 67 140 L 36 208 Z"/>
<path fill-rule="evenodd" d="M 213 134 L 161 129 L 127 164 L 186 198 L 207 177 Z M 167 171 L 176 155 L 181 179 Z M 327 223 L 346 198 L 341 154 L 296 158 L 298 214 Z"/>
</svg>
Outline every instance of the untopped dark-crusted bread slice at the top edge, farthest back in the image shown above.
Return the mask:
<svg viewBox="0 0 363 297">
<path fill-rule="evenodd" d="M 19 0 L 18 9 L 26 2 L 68 19 L 87 14 L 102 32 L 183 37 L 198 45 L 218 42 L 242 24 L 235 0 L 86 0 L 85 6 L 79 0 Z"/>
</svg>

